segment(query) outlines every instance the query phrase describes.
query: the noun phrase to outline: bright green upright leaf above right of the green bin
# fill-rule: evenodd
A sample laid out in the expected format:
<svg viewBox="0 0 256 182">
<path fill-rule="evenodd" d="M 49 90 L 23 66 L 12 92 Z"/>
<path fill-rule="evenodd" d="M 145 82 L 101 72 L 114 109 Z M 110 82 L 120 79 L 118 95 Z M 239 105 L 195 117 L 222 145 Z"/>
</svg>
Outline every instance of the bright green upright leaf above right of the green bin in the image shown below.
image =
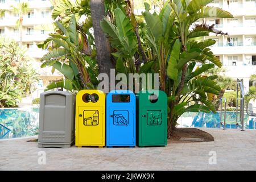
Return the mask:
<svg viewBox="0 0 256 182">
<path fill-rule="evenodd" d="M 177 61 L 180 59 L 180 40 L 177 39 L 172 48 L 171 57 L 168 62 L 167 76 L 172 80 L 177 80 L 178 69 Z"/>
</svg>

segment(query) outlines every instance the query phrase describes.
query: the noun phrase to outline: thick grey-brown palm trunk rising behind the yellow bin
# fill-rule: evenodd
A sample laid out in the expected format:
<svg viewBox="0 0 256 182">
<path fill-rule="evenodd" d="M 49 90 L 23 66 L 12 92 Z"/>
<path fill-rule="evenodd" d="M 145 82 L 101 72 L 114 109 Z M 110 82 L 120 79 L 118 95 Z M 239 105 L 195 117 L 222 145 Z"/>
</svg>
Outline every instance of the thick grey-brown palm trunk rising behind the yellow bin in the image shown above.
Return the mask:
<svg viewBox="0 0 256 182">
<path fill-rule="evenodd" d="M 114 68 L 111 61 L 110 43 L 100 26 L 100 21 L 105 16 L 104 0 L 90 0 L 90 10 L 93 20 L 99 72 L 106 73 L 110 78 L 110 69 Z"/>
</svg>

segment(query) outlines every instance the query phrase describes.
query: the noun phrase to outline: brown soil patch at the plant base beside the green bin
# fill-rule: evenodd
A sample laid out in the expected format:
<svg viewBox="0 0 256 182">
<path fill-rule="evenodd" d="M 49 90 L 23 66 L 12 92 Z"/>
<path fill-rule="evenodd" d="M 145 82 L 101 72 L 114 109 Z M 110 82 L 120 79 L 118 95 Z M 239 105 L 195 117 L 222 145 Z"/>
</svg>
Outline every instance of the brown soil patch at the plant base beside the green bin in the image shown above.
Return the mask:
<svg viewBox="0 0 256 182">
<path fill-rule="evenodd" d="M 203 139 L 203 141 L 185 141 L 180 140 L 181 138 L 196 138 Z M 172 134 L 171 139 L 168 140 L 168 143 L 191 143 L 191 142 L 212 142 L 214 138 L 211 134 L 195 129 L 195 128 L 185 128 L 185 129 L 176 129 Z"/>
</svg>

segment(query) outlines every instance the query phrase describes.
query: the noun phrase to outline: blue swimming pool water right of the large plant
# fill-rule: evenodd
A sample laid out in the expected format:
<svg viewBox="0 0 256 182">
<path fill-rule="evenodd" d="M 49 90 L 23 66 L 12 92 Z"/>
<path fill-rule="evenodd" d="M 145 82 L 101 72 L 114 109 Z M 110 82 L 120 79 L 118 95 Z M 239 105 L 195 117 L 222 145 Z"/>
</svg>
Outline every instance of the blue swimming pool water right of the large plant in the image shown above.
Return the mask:
<svg viewBox="0 0 256 182">
<path fill-rule="evenodd" d="M 240 113 L 238 113 L 238 118 Z M 222 123 L 224 123 L 224 112 L 222 113 Z M 239 119 L 238 119 L 239 122 Z M 245 129 L 256 129 L 256 118 L 244 115 Z M 178 127 L 220 127 L 220 112 L 217 113 L 184 113 L 179 118 Z M 236 111 L 226 111 L 226 128 L 236 129 Z"/>
</svg>

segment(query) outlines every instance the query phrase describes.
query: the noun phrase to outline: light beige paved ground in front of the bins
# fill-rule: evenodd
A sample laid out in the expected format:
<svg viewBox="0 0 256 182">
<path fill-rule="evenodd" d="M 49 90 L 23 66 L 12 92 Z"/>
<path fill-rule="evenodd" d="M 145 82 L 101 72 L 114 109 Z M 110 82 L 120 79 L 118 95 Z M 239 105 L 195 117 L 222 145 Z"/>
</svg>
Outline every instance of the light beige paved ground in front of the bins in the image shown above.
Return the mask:
<svg viewBox="0 0 256 182">
<path fill-rule="evenodd" d="M 0 170 L 256 170 L 255 130 L 203 130 L 215 141 L 152 148 L 42 149 L 27 139 L 0 140 Z M 38 164 L 39 151 L 46 152 L 45 165 Z M 217 164 L 209 164 L 215 154 Z"/>
</svg>

